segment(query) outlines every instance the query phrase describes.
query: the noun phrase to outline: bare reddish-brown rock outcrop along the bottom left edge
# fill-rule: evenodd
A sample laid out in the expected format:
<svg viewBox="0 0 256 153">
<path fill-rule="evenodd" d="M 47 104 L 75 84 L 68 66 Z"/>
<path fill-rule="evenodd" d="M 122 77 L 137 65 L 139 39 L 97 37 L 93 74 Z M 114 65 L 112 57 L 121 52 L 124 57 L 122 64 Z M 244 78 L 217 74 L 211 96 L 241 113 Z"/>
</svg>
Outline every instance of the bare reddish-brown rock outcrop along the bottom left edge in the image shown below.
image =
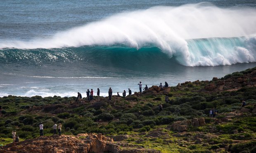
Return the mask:
<svg viewBox="0 0 256 153">
<path fill-rule="evenodd" d="M 118 153 L 119 146 L 102 134 L 53 135 L 7 144 L 0 153 Z"/>
</svg>

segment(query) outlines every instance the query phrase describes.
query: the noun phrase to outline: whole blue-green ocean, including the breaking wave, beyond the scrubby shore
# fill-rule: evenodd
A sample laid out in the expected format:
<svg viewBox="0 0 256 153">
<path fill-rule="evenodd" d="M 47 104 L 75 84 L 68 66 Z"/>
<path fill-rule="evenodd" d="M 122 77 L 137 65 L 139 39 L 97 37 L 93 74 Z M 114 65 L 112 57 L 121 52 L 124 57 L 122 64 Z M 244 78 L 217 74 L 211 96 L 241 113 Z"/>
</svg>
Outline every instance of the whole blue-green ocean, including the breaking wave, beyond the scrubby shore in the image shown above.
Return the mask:
<svg viewBox="0 0 256 153">
<path fill-rule="evenodd" d="M 255 0 L 2 0 L 0 97 L 107 96 L 256 66 Z"/>
</svg>

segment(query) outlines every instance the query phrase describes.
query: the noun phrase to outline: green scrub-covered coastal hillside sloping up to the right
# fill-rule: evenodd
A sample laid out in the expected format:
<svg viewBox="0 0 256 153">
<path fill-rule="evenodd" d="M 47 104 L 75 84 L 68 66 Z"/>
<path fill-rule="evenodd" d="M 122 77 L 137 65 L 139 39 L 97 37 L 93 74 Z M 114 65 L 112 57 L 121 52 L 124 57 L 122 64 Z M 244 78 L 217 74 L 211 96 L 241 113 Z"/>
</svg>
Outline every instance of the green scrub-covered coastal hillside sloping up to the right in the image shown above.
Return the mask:
<svg viewBox="0 0 256 153">
<path fill-rule="evenodd" d="M 165 102 L 168 95 L 170 101 Z M 211 81 L 185 82 L 164 89 L 152 86 L 128 97 L 100 97 L 92 105 L 76 97 L 0 97 L 0 144 L 12 130 L 24 139 L 53 134 L 102 133 L 121 147 L 161 152 L 256 152 L 256 67 Z M 242 100 L 247 105 L 241 108 Z M 159 111 L 159 104 L 163 110 Z M 209 116 L 210 109 L 218 112 Z M 121 138 L 120 138 L 121 137 Z"/>
</svg>

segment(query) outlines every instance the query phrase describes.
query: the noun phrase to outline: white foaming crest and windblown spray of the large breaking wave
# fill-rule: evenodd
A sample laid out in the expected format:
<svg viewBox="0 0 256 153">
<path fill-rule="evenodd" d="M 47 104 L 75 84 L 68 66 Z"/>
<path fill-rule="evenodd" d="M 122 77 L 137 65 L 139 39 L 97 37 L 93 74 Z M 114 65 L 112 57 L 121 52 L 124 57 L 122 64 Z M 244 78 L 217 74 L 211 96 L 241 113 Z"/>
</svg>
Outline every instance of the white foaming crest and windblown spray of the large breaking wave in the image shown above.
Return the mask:
<svg viewBox="0 0 256 153">
<path fill-rule="evenodd" d="M 20 52 L 20 49 L 32 49 L 32 54 L 41 54 L 38 60 L 40 57 L 71 60 L 78 58 L 76 53 L 57 52 L 59 56 L 56 56 L 55 49 L 69 50 L 69 47 L 75 47 L 81 50 L 80 46 L 87 46 L 83 51 L 90 48 L 97 55 L 97 46 L 109 46 L 122 51 L 146 48 L 152 51 L 152 47 L 157 47 L 168 58 L 174 58 L 186 66 L 250 63 L 256 62 L 255 16 L 255 8 L 219 8 L 208 3 L 153 7 L 110 16 L 102 21 L 56 33 L 49 39 L 31 39 L 28 42 L 1 40 L 0 57 L 11 57 L 9 48 L 19 49 Z M 157 53 L 152 53 L 152 56 L 157 56 Z M 24 58 L 23 53 L 16 58 Z M 161 57 L 158 58 L 161 60 Z"/>
</svg>

